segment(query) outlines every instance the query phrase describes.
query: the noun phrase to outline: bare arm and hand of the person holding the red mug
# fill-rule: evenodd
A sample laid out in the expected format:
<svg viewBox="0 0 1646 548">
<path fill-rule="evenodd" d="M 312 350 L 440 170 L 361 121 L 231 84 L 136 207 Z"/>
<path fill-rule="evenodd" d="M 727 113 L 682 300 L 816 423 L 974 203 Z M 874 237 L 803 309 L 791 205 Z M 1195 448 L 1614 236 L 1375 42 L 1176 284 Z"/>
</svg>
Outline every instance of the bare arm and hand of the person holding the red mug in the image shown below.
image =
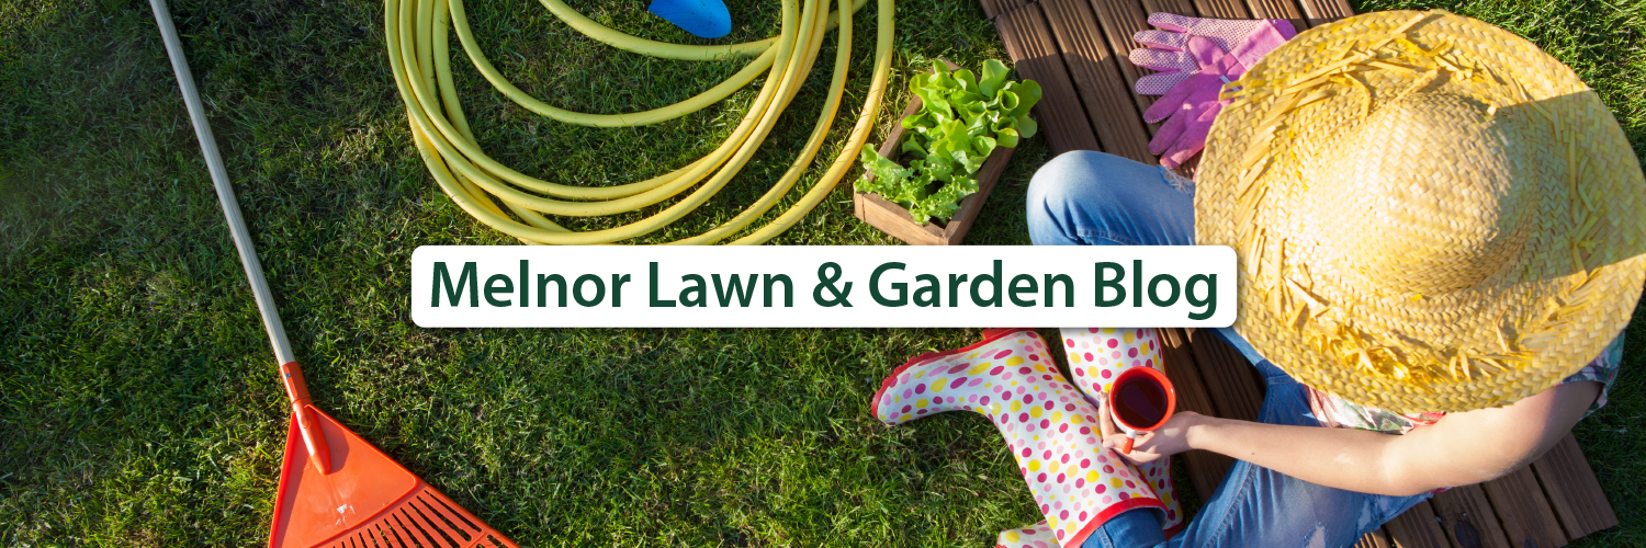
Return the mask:
<svg viewBox="0 0 1646 548">
<path fill-rule="evenodd" d="M 1560 441 L 1600 395 L 1598 382 L 1572 382 L 1508 406 L 1447 413 L 1430 426 L 1391 436 L 1350 428 L 1279 426 L 1179 413 L 1137 438 L 1131 457 L 1151 461 L 1207 449 L 1307 482 L 1379 494 L 1416 495 L 1501 477 Z M 1113 434 L 1103 408 L 1106 444 Z"/>
</svg>

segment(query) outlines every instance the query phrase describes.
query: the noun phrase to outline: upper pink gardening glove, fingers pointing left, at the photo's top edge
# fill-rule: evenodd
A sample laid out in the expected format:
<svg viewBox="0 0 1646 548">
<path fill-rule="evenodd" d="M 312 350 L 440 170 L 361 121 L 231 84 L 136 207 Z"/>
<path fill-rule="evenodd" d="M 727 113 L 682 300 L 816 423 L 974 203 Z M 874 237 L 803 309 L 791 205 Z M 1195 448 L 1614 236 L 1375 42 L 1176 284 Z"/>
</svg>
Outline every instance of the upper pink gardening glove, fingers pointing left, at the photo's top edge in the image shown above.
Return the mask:
<svg viewBox="0 0 1646 548">
<path fill-rule="evenodd" d="M 1246 69 L 1264 54 L 1297 36 L 1292 23 L 1286 20 L 1203 20 L 1177 13 L 1151 13 L 1149 25 L 1162 30 L 1147 30 L 1132 36 L 1146 48 L 1132 49 L 1131 61 L 1160 72 L 1137 79 L 1139 95 L 1165 95 L 1169 89 L 1200 71 L 1202 64 L 1188 53 L 1188 39 L 1193 36 L 1210 39 L 1220 51 L 1234 56 L 1239 71 L 1223 74 L 1230 81 L 1246 74 Z"/>
</svg>

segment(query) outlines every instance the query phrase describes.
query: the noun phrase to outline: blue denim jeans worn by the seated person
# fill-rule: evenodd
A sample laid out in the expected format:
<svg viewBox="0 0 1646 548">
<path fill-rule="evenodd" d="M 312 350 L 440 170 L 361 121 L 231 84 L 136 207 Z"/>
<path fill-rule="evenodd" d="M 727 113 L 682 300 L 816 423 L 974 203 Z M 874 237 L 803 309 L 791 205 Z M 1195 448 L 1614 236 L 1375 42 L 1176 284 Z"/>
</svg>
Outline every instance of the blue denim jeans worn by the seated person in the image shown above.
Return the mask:
<svg viewBox="0 0 1646 548">
<path fill-rule="evenodd" d="M 1057 156 L 1029 184 L 1029 235 L 1035 245 L 1193 245 L 1192 188 L 1147 166 L 1095 151 Z M 1304 385 L 1269 364 L 1233 329 L 1215 329 L 1267 380 L 1258 420 L 1320 426 Z M 1124 512 L 1085 546 L 1351 546 L 1429 499 L 1388 497 L 1310 484 L 1236 461 L 1200 513 L 1167 541 L 1154 512 Z"/>
</svg>

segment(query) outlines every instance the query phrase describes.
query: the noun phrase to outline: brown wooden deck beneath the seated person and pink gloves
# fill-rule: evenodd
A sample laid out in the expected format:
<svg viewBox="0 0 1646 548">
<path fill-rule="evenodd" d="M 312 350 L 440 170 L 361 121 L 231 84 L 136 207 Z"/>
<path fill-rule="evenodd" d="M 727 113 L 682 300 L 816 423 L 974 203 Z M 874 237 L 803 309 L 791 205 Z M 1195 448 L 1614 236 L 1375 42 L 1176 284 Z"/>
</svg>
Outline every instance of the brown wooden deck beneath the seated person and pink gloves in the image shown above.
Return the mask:
<svg viewBox="0 0 1646 548">
<path fill-rule="evenodd" d="M 979 0 L 994 20 L 1022 77 L 1040 82 L 1035 117 L 1053 153 L 1100 150 L 1144 163 L 1159 125 L 1144 123 L 1152 97 L 1132 94 L 1147 74 L 1128 61 L 1131 36 L 1154 12 L 1215 18 L 1284 18 L 1304 31 L 1353 10 L 1345 0 Z M 1241 355 L 1210 334 L 1162 329 L 1167 375 L 1179 406 L 1256 420 L 1262 380 Z M 1183 456 L 1202 497 L 1223 481 L 1233 459 L 1205 451 Z M 1567 434 L 1529 467 L 1480 485 L 1447 490 L 1366 535 L 1360 548 L 1549 548 L 1618 525 L 1600 482 Z"/>
</svg>

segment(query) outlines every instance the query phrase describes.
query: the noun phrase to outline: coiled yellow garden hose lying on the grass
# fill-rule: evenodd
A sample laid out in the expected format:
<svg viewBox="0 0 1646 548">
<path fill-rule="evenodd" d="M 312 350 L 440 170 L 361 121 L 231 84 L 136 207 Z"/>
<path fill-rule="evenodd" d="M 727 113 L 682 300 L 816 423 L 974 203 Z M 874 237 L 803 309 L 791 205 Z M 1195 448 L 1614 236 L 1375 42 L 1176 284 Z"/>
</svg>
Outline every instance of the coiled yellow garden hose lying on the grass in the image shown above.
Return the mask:
<svg viewBox="0 0 1646 548">
<path fill-rule="evenodd" d="M 527 95 L 492 67 L 469 33 L 463 0 L 385 0 L 384 26 L 387 30 L 388 64 L 407 104 L 407 117 L 418 155 L 439 188 L 481 222 L 514 235 L 525 244 L 588 245 L 612 244 L 655 232 L 680 221 L 726 186 L 760 146 L 777 118 L 800 91 L 811 64 L 823 48 L 823 35 L 838 30 L 835 76 L 830 82 L 816 127 L 800 156 L 772 188 L 741 214 L 721 225 L 668 244 L 714 244 L 749 227 L 770 211 L 805 174 L 823 146 L 839 100 L 846 87 L 851 61 L 853 13 L 867 0 L 854 0 L 830 12 L 831 0 L 782 0 L 782 31 L 775 38 L 729 46 L 668 44 L 619 33 L 599 25 L 566 7 L 561 0 L 540 0 L 545 8 L 568 26 L 611 44 L 614 48 L 665 59 L 709 61 L 729 56 L 754 56 L 744 69 L 724 82 L 678 104 L 635 114 L 581 114 L 548 105 Z M 877 0 L 877 38 L 874 76 L 863 112 L 846 138 L 846 146 L 828 171 L 788 211 L 767 225 L 731 244 L 764 244 L 782 234 L 807 216 L 833 191 L 835 184 L 856 165 L 867 142 L 886 95 L 886 82 L 892 63 L 894 0 Z M 448 31 L 456 28 L 464 53 L 504 95 L 540 115 L 589 127 L 632 127 L 658 123 L 701 110 L 765 72 L 765 82 L 731 137 L 706 156 L 667 174 L 619 186 L 558 184 L 518 173 L 486 155 L 458 100 L 451 79 L 451 58 L 446 49 Z M 645 219 L 601 230 L 573 232 L 545 217 L 551 216 L 611 216 L 647 207 L 685 193 L 695 191 L 675 204 Z M 495 197 L 495 201 L 494 201 Z M 499 202 L 502 207 L 499 207 Z"/>
</svg>

